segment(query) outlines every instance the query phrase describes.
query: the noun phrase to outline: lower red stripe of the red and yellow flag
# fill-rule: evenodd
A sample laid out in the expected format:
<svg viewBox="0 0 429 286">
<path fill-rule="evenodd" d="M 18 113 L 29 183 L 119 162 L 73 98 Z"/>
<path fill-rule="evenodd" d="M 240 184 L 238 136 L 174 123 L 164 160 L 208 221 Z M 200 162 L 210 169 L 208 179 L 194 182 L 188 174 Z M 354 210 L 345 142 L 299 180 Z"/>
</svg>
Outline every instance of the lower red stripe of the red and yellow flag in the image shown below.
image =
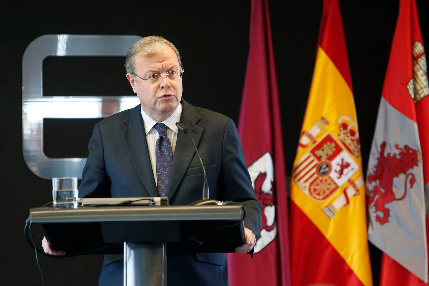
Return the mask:
<svg viewBox="0 0 429 286">
<path fill-rule="evenodd" d="M 290 219 L 299 222 L 292 224 L 290 230 L 292 285 L 363 286 L 347 262 L 292 200 L 289 207 Z"/>
</svg>

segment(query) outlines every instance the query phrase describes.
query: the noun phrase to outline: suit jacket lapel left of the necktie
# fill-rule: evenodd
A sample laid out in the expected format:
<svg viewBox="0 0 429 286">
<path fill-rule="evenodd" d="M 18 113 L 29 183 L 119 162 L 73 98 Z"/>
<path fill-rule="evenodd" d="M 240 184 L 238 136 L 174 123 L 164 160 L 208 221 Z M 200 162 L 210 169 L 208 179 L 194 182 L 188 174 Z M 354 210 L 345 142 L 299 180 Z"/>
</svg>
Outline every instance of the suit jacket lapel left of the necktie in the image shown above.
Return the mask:
<svg viewBox="0 0 429 286">
<path fill-rule="evenodd" d="M 131 162 L 149 195 L 158 197 L 159 195 L 155 185 L 151 159 L 149 158 L 148 143 L 146 141 L 145 126 L 143 125 L 140 105 L 134 107 L 133 110 L 130 111 L 124 123 L 128 125 L 128 128 L 122 130 L 121 134 Z M 133 190 L 133 193 L 129 195 L 135 197 L 141 196 L 138 190 Z"/>
</svg>

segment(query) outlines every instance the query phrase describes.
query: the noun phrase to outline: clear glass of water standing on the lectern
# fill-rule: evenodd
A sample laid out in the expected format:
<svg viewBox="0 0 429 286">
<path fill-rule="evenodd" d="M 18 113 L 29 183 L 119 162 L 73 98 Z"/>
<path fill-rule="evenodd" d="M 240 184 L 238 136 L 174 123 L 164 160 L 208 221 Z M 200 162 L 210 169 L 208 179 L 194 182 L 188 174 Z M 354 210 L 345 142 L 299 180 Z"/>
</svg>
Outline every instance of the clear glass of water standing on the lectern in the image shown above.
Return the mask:
<svg viewBox="0 0 429 286">
<path fill-rule="evenodd" d="M 52 199 L 54 207 L 78 208 L 78 178 L 52 178 Z"/>
</svg>

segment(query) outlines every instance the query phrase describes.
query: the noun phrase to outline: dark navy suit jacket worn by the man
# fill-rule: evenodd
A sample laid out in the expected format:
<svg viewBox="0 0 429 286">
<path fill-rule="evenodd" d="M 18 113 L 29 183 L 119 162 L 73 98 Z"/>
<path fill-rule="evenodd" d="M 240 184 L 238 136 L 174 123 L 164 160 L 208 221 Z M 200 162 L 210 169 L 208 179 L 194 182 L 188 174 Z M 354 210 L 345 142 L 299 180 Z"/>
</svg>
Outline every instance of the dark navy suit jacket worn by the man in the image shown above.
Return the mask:
<svg viewBox="0 0 429 286">
<path fill-rule="evenodd" d="M 254 194 L 234 122 L 227 116 L 181 100 L 180 122 L 189 128 L 205 166 L 210 198 L 245 206 L 244 224 L 257 236 L 261 206 Z M 140 105 L 101 120 L 88 144 L 89 155 L 79 186 L 81 197 L 157 197 Z M 179 130 L 167 186 L 171 205 L 201 199 L 203 171 L 188 134 Z M 172 251 L 170 251 L 172 250 Z M 253 252 L 253 249 L 252 249 Z M 245 255 L 245 254 L 243 254 Z M 122 285 L 121 256 L 106 255 L 100 285 Z M 169 285 L 228 285 L 225 253 L 167 251 Z M 115 281 L 120 282 L 113 282 Z M 117 284 L 118 283 L 118 284 Z"/>
</svg>

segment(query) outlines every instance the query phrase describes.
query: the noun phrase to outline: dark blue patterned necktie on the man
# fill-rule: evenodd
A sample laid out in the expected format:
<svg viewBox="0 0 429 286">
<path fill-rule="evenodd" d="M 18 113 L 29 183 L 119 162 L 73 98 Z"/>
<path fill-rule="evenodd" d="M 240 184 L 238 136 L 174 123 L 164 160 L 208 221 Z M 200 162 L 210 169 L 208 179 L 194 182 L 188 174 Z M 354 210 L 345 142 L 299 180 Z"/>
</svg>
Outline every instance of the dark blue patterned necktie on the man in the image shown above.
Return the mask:
<svg viewBox="0 0 429 286">
<path fill-rule="evenodd" d="M 167 184 L 173 162 L 173 150 L 171 149 L 170 139 L 167 136 L 168 127 L 164 123 L 157 123 L 154 128 L 160 135 L 155 146 L 158 194 L 160 197 L 166 197 Z"/>
</svg>

